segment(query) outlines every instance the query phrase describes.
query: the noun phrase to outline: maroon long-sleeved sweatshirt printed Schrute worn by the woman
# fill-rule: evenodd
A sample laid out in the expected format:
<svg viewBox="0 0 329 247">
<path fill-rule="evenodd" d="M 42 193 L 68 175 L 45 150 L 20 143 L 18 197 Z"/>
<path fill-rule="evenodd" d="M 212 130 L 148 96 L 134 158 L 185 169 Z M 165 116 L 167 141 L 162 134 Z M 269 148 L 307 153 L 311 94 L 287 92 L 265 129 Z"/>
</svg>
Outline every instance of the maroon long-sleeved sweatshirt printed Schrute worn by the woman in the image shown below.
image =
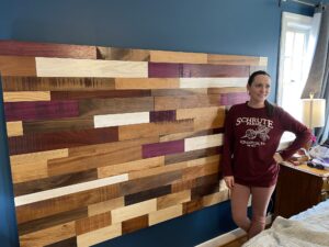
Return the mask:
<svg viewBox="0 0 329 247">
<path fill-rule="evenodd" d="M 280 167 L 273 156 L 285 131 L 293 132 L 296 139 L 280 153 L 283 159 L 310 139 L 309 130 L 279 106 L 269 117 L 265 108 L 250 108 L 247 102 L 232 105 L 225 120 L 223 175 L 234 176 L 243 186 L 275 184 Z"/>
</svg>

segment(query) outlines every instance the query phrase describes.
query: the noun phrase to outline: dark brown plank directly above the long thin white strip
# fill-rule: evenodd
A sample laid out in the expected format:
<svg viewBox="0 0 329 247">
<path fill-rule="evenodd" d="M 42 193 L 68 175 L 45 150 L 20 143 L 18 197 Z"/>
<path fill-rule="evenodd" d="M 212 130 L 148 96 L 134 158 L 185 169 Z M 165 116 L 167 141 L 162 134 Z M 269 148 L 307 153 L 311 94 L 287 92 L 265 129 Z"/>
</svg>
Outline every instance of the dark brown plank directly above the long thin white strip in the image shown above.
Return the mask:
<svg viewBox="0 0 329 247">
<path fill-rule="evenodd" d="M 15 197 L 19 197 L 23 194 L 36 193 L 44 190 L 67 187 L 80 182 L 92 181 L 95 179 L 98 179 L 97 169 L 90 169 L 87 171 L 70 175 L 54 176 L 50 178 L 15 183 L 14 194 Z"/>
</svg>

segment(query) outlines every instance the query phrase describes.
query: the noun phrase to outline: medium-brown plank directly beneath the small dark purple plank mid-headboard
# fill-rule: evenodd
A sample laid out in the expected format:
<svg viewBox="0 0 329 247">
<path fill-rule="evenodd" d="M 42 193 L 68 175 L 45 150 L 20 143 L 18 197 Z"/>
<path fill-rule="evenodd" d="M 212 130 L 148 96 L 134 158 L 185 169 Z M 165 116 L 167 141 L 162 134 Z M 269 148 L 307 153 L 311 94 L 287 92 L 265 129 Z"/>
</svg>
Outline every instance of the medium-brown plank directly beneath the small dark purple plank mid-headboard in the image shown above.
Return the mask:
<svg viewBox="0 0 329 247">
<path fill-rule="evenodd" d="M 118 127 L 118 139 L 135 139 L 150 136 L 160 136 L 180 132 L 191 132 L 194 125 L 192 120 L 175 122 L 158 122 L 147 124 L 132 124 Z"/>
</svg>

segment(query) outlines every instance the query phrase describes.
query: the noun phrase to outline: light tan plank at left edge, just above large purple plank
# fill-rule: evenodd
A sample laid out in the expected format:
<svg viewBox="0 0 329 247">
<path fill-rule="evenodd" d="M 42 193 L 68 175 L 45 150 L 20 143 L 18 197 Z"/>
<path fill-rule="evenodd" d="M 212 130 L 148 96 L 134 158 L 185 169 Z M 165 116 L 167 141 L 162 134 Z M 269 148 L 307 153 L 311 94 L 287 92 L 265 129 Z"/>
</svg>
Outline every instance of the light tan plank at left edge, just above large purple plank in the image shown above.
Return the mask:
<svg viewBox="0 0 329 247">
<path fill-rule="evenodd" d="M 50 101 L 50 92 L 47 91 L 3 92 L 3 101 L 4 102 Z"/>
</svg>

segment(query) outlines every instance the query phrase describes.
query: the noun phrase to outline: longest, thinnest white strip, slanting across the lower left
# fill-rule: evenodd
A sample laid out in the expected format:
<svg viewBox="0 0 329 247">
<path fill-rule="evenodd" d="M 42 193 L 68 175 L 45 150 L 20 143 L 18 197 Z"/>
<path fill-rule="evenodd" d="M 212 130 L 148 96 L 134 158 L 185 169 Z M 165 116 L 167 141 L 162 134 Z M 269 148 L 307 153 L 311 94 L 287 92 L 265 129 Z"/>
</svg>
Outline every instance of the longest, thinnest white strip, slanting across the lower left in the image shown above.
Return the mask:
<svg viewBox="0 0 329 247">
<path fill-rule="evenodd" d="M 61 188 L 46 190 L 46 191 L 36 192 L 32 194 L 21 195 L 14 199 L 15 206 L 44 201 L 53 198 L 58 198 L 67 194 L 78 193 L 81 191 L 97 189 L 105 186 L 111 186 L 127 180 L 128 180 L 128 175 L 125 173 L 125 175 L 113 176 L 104 179 L 98 179 L 90 182 L 81 182 L 73 186 L 61 187 Z"/>
</svg>

